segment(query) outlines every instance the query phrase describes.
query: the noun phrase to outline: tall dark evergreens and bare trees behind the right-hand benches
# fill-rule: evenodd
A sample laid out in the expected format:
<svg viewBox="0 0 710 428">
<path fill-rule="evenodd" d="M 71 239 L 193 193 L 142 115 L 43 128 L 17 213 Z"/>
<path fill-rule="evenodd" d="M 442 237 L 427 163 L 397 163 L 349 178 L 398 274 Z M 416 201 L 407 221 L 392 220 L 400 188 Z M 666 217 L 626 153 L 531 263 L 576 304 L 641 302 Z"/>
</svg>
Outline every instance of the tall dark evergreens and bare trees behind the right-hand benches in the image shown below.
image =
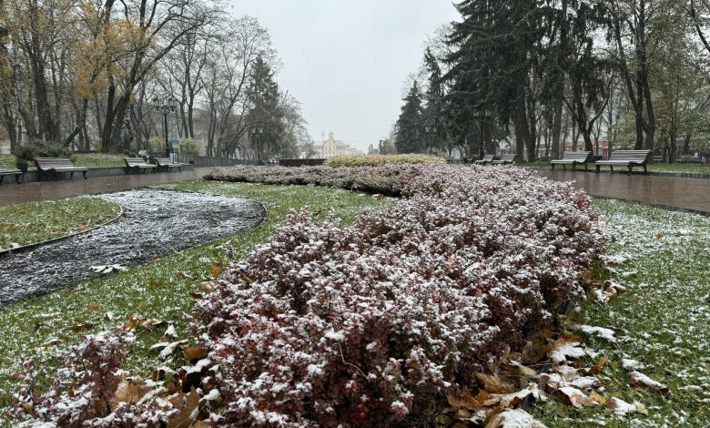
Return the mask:
<svg viewBox="0 0 710 428">
<path fill-rule="evenodd" d="M 573 150 L 710 152 L 708 0 L 463 0 L 425 47 L 396 125 L 400 152 L 528 161 Z M 579 141 L 579 143 L 578 143 Z M 679 143 L 680 142 L 680 143 Z M 598 152 L 598 150 L 597 150 Z"/>
</svg>

